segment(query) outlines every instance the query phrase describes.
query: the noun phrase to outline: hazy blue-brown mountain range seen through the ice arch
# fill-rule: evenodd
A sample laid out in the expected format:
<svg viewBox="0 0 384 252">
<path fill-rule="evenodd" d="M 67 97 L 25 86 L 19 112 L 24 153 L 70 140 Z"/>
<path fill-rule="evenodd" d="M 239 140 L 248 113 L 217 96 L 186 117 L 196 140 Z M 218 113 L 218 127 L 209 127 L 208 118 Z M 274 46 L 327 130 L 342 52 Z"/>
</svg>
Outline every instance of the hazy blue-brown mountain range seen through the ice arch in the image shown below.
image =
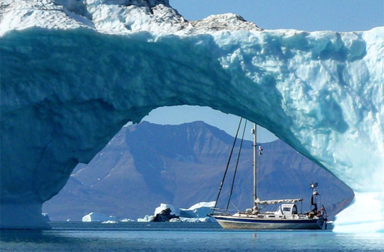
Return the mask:
<svg viewBox="0 0 384 252">
<path fill-rule="evenodd" d="M 202 121 L 158 125 L 143 121 L 124 127 L 85 165 L 79 164 L 63 190 L 43 205 L 51 220 L 81 220 L 89 212 L 118 218 L 152 214 L 160 203 L 187 208 L 216 200 L 234 138 Z M 226 205 L 239 142 L 233 151 L 219 206 Z M 258 196 L 263 200 L 303 198 L 319 182 L 331 215 L 353 198 L 352 190 L 280 140 L 262 144 L 258 156 Z M 244 141 L 230 209 L 252 205 L 252 142 Z M 299 206 L 300 208 L 300 206 Z"/>
</svg>

